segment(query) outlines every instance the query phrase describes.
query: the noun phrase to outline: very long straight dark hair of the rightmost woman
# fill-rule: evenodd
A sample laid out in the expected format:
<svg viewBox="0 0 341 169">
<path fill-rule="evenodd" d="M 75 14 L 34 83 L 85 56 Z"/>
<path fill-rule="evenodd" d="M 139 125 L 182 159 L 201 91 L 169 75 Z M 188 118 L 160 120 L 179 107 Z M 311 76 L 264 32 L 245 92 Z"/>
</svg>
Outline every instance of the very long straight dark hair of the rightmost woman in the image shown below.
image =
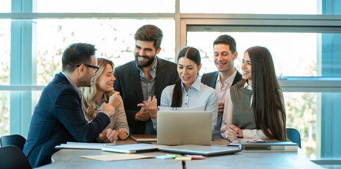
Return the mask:
<svg viewBox="0 0 341 169">
<path fill-rule="evenodd" d="M 252 108 L 256 127 L 270 139 L 285 141 L 285 106 L 270 51 L 263 46 L 253 46 L 246 52 L 252 67 Z M 246 81 L 243 80 L 238 89 Z"/>
</svg>

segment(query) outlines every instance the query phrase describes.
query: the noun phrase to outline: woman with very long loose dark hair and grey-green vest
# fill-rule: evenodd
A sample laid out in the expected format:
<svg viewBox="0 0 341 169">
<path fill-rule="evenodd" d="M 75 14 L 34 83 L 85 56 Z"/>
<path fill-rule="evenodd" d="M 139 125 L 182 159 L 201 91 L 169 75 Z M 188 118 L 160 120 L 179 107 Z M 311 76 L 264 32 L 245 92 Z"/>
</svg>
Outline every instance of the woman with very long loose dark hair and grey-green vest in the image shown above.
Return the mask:
<svg viewBox="0 0 341 169">
<path fill-rule="evenodd" d="M 247 49 L 242 70 L 243 81 L 226 94 L 221 135 L 285 141 L 285 106 L 270 51 Z"/>
</svg>

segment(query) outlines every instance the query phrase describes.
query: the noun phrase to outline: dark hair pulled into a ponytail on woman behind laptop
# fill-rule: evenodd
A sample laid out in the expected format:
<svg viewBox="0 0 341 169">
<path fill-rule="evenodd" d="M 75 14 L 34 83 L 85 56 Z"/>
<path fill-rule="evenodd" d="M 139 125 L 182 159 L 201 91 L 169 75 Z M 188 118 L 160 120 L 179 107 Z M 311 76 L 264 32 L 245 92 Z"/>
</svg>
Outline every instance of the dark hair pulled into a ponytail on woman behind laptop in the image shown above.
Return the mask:
<svg viewBox="0 0 341 169">
<path fill-rule="evenodd" d="M 201 63 L 200 52 L 198 49 L 195 49 L 191 46 L 187 46 L 184 49 L 181 49 L 178 56 L 179 58 L 186 57 L 193 61 L 197 66 Z M 175 82 L 173 96 L 172 96 L 172 107 L 181 107 L 182 106 L 182 89 L 181 89 L 181 78 Z"/>
</svg>

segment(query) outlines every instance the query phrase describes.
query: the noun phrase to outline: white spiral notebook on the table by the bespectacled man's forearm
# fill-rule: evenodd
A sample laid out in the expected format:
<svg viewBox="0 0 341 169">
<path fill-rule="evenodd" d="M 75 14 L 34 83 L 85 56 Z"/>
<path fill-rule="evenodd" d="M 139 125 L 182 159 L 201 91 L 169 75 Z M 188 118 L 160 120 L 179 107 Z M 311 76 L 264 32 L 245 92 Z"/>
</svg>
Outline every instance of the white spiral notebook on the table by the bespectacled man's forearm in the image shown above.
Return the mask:
<svg viewBox="0 0 341 169">
<path fill-rule="evenodd" d="M 103 146 L 113 146 L 115 143 L 86 143 L 86 142 L 66 142 L 56 146 L 56 149 L 102 149 Z"/>
</svg>

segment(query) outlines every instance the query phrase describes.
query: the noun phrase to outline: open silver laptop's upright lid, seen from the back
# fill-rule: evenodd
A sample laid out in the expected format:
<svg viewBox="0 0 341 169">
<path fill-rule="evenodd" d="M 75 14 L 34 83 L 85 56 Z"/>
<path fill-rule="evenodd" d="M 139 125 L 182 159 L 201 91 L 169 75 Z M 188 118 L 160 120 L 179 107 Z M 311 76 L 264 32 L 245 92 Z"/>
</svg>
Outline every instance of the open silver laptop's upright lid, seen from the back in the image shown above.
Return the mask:
<svg viewBox="0 0 341 169">
<path fill-rule="evenodd" d="M 212 112 L 158 111 L 157 144 L 211 145 Z"/>
</svg>

